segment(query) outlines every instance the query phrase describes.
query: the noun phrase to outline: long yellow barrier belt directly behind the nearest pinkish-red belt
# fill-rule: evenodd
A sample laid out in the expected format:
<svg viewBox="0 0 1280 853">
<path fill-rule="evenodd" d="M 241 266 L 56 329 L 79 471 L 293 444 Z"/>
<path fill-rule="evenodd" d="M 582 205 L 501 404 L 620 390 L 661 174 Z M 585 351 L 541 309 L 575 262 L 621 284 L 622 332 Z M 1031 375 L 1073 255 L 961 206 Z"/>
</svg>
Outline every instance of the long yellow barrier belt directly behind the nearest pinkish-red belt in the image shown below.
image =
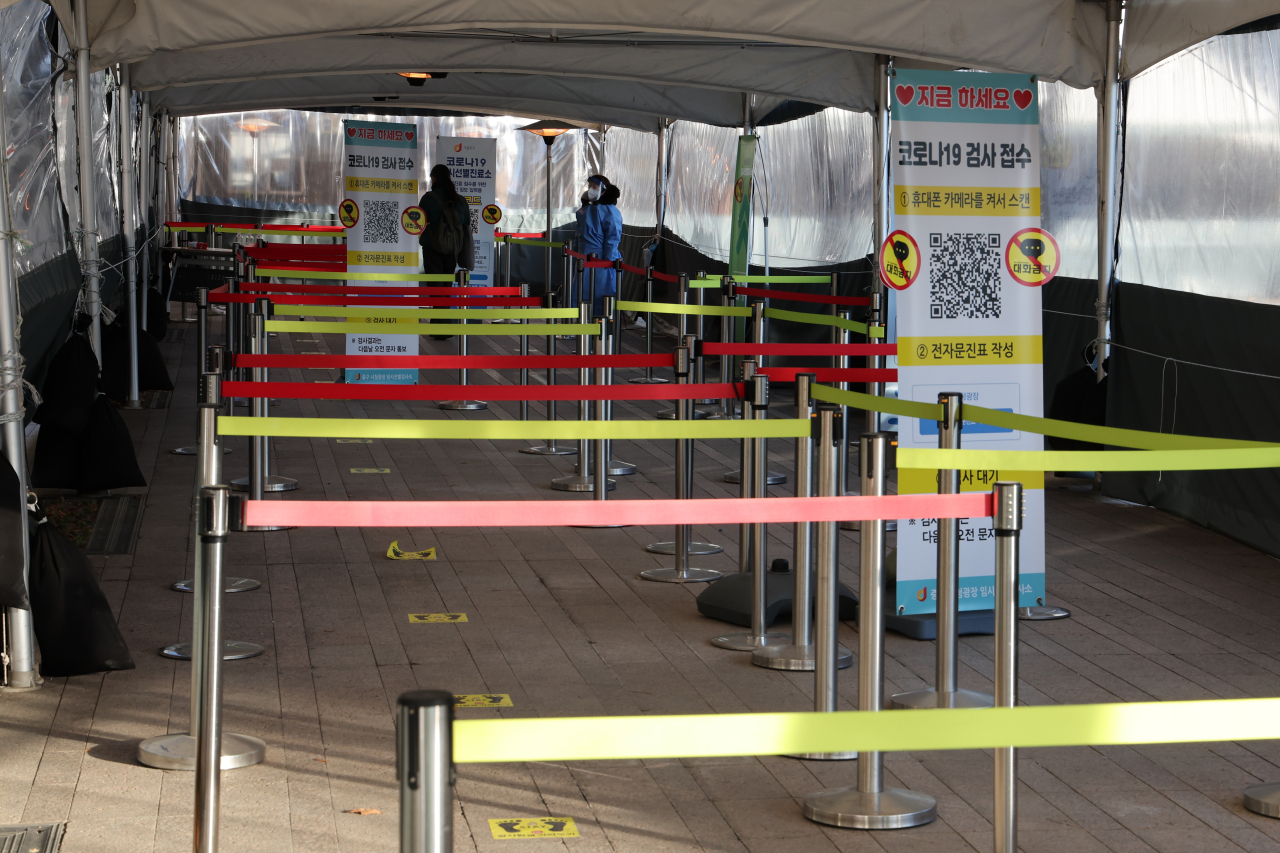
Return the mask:
<svg viewBox="0 0 1280 853">
<path fill-rule="evenodd" d="M 406 386 L 408 387 L 408 386 Z M 489 388 L 492 386 L 485 386 Z M 796 438 L 809 434 L 809 420 L 557 420 L 536 424 L 518 420 L 390 420 L 379 418 L 242 418 L 218 419 L 220 435 L 288 438 L 407 438 L 513 441 L 673 441 L 676 438 Z M 613 503 L 613 502 L 611 502 Z"/>
</svg>

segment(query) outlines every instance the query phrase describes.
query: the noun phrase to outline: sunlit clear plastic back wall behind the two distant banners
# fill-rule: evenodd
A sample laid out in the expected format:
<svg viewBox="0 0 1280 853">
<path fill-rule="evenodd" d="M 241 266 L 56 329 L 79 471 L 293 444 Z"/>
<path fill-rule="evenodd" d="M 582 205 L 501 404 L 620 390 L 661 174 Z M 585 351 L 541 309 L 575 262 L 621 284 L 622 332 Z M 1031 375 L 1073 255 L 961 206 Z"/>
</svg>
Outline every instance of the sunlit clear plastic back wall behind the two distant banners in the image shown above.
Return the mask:
<svg viewBox="0 0 1280 853">
<path fill-rule="evenodd" d="M 513 117 L 338 115 L 261 110 L 182 120 L 179 175 L 184 197 L 224 205 L 328 215 L 337 210 L 342 174 L 342 119 L 415 124 L 426 181 L 436 136 L 498 140 L 499 227 L 543 231 L 547 218 L 547 145 Z M 256 136 L 255 136 L 256 133 Z M 552 224 L 573 219 L 586 182 L 589 131 L 568 131 L 552 145 Z"/>
</svg>

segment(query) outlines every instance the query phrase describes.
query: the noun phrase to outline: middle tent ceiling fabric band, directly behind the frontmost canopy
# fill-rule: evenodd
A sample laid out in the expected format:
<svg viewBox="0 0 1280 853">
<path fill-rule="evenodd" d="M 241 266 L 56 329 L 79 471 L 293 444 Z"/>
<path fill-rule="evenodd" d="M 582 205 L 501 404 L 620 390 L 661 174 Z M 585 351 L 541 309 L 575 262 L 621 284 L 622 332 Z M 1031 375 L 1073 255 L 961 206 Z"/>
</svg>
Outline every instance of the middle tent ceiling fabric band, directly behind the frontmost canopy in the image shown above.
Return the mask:
<svg viewBox="0 0 1280 853">
<path fill-rule="evenodd" d="M 134 63 L 131 76 L 134 88 L 147 91 L 402 70 L 556 74 L 756 92 L 870 111 L 874 61 L 872 54 L 787 45 L 675 41 L 640 47 L 609 38 L 552 42 L 495 33 L 401 33 L 328 36 L 228 50 L 160 51 Z M 756 115 L 764 115 L 759 105 Z"/>
</svg>

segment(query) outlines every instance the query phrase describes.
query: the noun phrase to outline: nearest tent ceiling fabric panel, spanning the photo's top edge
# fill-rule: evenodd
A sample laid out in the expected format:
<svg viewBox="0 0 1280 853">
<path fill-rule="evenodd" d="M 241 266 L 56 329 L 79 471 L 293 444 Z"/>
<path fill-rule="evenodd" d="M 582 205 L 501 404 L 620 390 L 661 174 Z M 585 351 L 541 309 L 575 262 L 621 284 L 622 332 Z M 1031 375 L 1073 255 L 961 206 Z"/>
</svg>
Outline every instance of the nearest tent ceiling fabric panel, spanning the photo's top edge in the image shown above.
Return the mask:
<svg viewBox="0 0 1280 853">
<path fill-rule="evenodd" d="M 52 0 L 64 26 L 70 0 Z M 607 31 L 884 53 L 1091 86 L 1106 14 L 1087 0 L 87 0 L 95 68 L 160 50 L 410 31 Z M 132 14 L 131 14 L 132 12 Z"/>
</svg>

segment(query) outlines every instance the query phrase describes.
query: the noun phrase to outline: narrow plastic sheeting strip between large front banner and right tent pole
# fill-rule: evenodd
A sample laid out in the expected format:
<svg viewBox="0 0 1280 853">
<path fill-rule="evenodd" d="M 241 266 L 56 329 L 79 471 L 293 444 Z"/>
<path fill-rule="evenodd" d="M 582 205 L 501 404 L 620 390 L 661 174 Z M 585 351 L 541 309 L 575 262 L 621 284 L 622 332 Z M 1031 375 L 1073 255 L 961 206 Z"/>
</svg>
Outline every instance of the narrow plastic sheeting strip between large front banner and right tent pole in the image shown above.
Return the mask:
<svg viewBox="0 0 1280 853">
<path fill-rule="evenodd" d="M 1041 83 L 1041 225 L 1062 250 L 1060 275 L 1098 275 L 1098 99 Z M 1052 286 L 1050 286 L 1052 287 Z"/>
</svg>

